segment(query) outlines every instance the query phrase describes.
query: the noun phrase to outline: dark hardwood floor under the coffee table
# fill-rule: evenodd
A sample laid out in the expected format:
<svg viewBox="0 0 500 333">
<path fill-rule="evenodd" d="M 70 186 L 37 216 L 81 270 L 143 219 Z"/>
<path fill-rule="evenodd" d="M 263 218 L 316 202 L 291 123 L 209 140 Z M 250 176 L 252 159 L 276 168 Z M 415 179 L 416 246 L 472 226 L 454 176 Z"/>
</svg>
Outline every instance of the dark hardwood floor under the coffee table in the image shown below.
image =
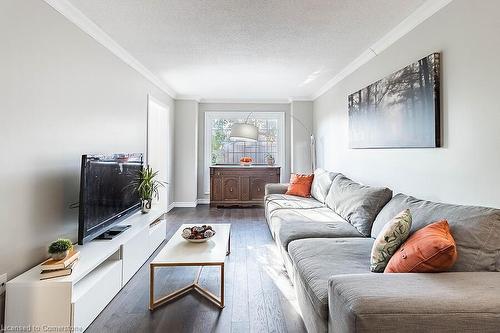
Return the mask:
<svg viewBox="0 0 500 333">
<path fill-rule="evenodd" d="M 190 293 L 149 311 L 148 261 L 86 332 L 305 332 L 263 209 L 176 208 L 167 214 L 167 240 L 183 223 L 231 223 L 225 308 Z M 191 283 L 196 272 L 193 267 L 158 269 L 157 297 Z M 219 279 L 218 268 L 205 267 L 200 281 L 218 294 Z"/>
</svg>

